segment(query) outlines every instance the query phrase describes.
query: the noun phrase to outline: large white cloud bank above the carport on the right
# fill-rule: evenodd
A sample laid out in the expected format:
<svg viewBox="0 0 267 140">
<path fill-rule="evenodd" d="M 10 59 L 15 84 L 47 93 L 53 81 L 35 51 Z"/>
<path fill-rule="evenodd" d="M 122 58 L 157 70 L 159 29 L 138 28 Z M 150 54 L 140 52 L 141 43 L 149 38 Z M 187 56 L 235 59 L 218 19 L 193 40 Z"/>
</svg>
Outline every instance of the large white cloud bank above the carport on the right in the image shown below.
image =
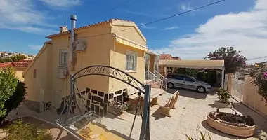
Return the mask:
<svg viewBox="0 0 267 140">
<path fill-rule="evenodd" d="M 233 46 L 247 59 L 266 56 L 266 5 L 266 0 L 257 0 L 254 8 L 247 12 L 216 15 L 195 29 L 195 33 L 174 39 L 169 47 L 155 52 L 171 53 L 182 59 L 202 59 L 221 46 Z"/>
</svg>

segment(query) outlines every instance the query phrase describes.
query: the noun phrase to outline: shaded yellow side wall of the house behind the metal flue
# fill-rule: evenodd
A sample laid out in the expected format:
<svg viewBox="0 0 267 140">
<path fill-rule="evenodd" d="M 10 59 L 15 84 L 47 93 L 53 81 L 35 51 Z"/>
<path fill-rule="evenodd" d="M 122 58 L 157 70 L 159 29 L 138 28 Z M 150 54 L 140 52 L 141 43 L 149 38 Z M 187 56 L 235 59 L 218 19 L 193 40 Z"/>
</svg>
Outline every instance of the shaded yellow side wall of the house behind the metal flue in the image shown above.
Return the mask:
<svg viewBox="0 0 267 140">
<path fill-rule="evenodd" d="M 86 43 L 86 50 L 84 52 L 76 52 L 77 63 L 75 64 L 75 70 L 69 71 L 69 76 L 67 76 L 67 79 L 57 78 L 58 57 L 60 48 L 69 48 L 70 34 L 52 38 L 53 49 L 51 53 L 54 59 L 51 69 L 51 98 L 53 98 L 52 95 L 56 94 L 56 92 L 60 92 L 60 97 L 65 97 L 70 94 L 70 74 L 76 73 L 86 66 L 97 64 L 109 66 L 109 48 L 113 44 L 112 35 L 108 34 L 106 36 L 89 37 L 108 32 L 110 32 L 110 24 L 98 25 L 97 27 L 89 27 L 81 31 L 76 31 L 76 40 Z M 70 55 L 68 56 L 68 59 L 68 62 L 70 62 Z M 94 90 L 108 92 L 108 81 L 109 78 L 104 76 L 85 76 L 84 78 L 77 80 L 76 86 L 79 88 L 79 91 L 85 90 L 86 87 L 89 87 Z M 76 89 L 75 91 L 77 92 Z M 51 101 L 53 101 L 53 99 L 51 99 Z M 53 104 L 58 105 L 59 103 Z"/>
</svg>

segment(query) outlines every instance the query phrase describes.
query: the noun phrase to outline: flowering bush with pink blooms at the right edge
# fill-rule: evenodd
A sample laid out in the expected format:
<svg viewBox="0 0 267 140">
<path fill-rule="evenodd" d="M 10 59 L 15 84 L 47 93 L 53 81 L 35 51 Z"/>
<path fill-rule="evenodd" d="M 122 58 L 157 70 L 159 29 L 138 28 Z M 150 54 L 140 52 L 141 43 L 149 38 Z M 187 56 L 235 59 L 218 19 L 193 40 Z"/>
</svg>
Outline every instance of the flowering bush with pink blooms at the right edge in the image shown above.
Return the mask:
<svg viewBox="0 0 267 140">
<path fill-rule="evenodd" d="M 258 93 L 267 104 L 267 65 L 264 63 L 255 64 L 252 75 L 254 76 L 252 84 L 259 87 Z"/>
</svg>

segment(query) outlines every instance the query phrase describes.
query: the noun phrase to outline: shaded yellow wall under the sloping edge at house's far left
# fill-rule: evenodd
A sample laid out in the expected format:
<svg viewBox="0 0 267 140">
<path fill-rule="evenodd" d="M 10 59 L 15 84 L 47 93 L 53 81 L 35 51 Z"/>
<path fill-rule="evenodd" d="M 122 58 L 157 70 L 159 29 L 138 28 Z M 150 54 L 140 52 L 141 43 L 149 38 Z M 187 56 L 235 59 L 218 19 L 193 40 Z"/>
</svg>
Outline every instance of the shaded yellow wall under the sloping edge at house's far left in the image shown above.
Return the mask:
<svg viewBox="0 0 267 140">
<path fill-rule="evenodd" d="M 44 100 L 50 101 L 50 92 L 48 92 L 49 87 L 47 86 L 46 81 L 48 80 L 48 50 L 47 48 L 51 48 L 51 44 L 46 44 L 44 52 L 41 53 L 37 59 L 35 59 L 34 63 L 30 65 L 28 71 L 24 75 L 24 83 L 25 87 L 27 87 L 27 96 L 26 99 L 32 101 L 39 101 L 40 97 L 40 89 L 44 90 Z M 51 55 L 49 55 L 51 57 Z M 36 78 L 34 78 L 34 69 L 36 69 Z"/>
</svg>

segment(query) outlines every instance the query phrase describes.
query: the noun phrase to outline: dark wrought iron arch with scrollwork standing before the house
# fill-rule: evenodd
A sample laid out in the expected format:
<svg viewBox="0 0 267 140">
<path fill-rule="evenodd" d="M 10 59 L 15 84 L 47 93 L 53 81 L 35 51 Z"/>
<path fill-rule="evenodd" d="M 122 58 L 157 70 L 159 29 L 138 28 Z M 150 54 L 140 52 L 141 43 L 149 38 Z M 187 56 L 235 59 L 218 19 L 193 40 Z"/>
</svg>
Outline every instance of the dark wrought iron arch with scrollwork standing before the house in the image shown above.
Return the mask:
<svg viewBox="0 0 267 140">
<path fill-rule="evenodd" d="M 138 95 L 139 97 L 141 96 L 141 93 L 144 94 L 144 107 L 143 107 L 143 118 L 142 118 L 142 126 L 141 126 L 141 134 L 139 137 L 139 140 L 144 140 L 150 139 L 150 126 L 149 126 L 149 116 L 150 116 L 150 111 L 149 111 L 149 106 L 150 106 L 150 89 L 151 86 L 150 85 L 144 85 L 143 83 L 141 83 L 139 80 L 137 80 L 136 78 L 134 78 L 133 76 L 129 75 L 128 73 L 116 69 L 114 67 L 111 66 L 103 66 L 103 65 L 93 65 L 93 66 L 87 66 L 84 69 L 81 69 L 79 71 L 77 71 L 77 73 L 74 73 L 71 75 L 70 78 L 70 106 L 67 106 L 67 116 L 64 120 L 65 124 L 68 120 L 68 117 L 70 115 L 70 110 L 71 110 L 71 104 L 72 101 L 76 102 L 77 104 L 77 99 L 74 93 L 74 86 L 75 83 L 77 82 L 77 79 L 82 78 L 84 76 L 106 76 L 106 77 L 110 77 L 110 78 L 115 78 L 117 80 L 122 81 L 123 83 L 126 83 L 128 85 L 130 85 L 131 87 L 134 87 L 136 90 L 138 90 Z M 139 100 L 140 102 L 140 100 Z M 77 109 L 79 109 L 79 105 L 77 104 Z M 136 108 L 136 113 L 138 111 L 138 108 Z M 88 115 L 84 115 L 81 111 L 81 109 L 79 109 L 79 113 L 81 114 L 82 117 L 84 116 L 88 116 Z M 134 121 L 136 120 L 136 115 L 134 117 L 133 120 L 133 124 Z M 59 120 L 58 120 L 59 121 Z M 58 123 L 57 123 L 58 124 Z M 62 130 L 60 130 L 60 133 L 58 134 L 57 139 L 60 138 L 60 135 L 62 134 L 63 130 L 66 130 L 66 127 L 64 126 L 60 126 L 61 128 L 63 128 Z M 133 125 L 131 127 L 131 131 L 133 130 Z M 79 137 L 77 136 L 77 134 L 73 134 L 75 137 L 77 137 L 77 139 L 79 139 Z"/>
</svg>

